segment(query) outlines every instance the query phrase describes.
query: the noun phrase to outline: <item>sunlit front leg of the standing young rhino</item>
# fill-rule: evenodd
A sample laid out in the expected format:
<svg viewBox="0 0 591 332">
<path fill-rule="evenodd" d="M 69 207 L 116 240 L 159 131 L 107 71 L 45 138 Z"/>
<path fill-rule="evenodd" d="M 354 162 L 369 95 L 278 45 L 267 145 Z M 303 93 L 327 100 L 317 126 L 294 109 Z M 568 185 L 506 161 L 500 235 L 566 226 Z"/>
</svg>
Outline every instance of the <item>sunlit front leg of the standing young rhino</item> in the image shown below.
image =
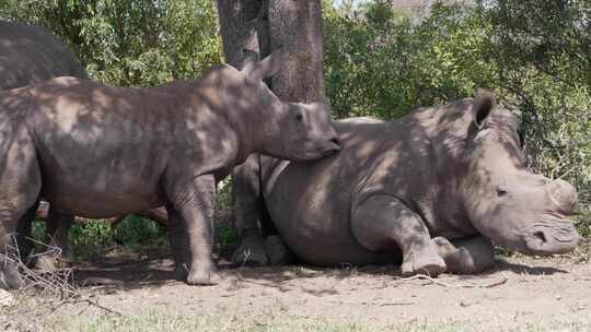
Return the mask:
<svg viewBox="0 0 591 332">
<path fill-rule="evenodd" d="M 213 285 L 220 278 L 211 259 L 215 191 L 212 175 L 194 178 L 189 183 L 174 181 L 166 190 L 172 203 L 169 213 L 176 272 L 178 275 L 188 270 L 187 283 L 192 285 Z"/>
</svg>

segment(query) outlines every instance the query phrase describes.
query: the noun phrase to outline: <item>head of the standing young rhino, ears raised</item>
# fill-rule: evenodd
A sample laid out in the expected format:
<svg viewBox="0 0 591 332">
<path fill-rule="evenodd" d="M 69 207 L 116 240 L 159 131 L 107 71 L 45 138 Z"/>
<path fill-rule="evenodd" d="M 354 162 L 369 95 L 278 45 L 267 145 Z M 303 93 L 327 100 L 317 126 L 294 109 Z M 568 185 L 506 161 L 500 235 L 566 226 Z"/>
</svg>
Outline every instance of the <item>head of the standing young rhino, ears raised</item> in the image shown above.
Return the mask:
<svg viewBox="0 0 591 332">
<path fill-rule="evenodd" d="M 329 111 L 323 103 L 301 104 L 281 102 L 263 82 L 282 67 L 285 54 L 274 52 L 258 61 L 256 52 L 244 50 L 241 69 L 245 94 L 255 96 L 250 107 L 258 108 L 259 118 L 253 119 L 253 133 L 262 142 L 259 153 L 290 161 L 312 161 L 340 151 Z"/>
</svg>

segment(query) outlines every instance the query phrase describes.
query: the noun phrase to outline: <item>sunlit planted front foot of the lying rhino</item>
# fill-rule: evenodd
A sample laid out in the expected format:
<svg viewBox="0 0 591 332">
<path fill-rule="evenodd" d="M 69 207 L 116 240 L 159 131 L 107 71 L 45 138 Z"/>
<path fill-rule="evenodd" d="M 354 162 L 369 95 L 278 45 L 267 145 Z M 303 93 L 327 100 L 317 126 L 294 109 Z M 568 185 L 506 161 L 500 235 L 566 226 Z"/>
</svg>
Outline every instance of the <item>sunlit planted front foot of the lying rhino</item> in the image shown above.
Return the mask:
<svg viewBox="0 0 591 332">
<path fill-rule="evenodd" d="M 434 246 L 425 246 L 420 250 L 405 254 L 405 259 L 401 266 L 403 276 L 415 274 L 426 274 L 437 276 L 447 270 L 445 261 Z"/>
</svg>

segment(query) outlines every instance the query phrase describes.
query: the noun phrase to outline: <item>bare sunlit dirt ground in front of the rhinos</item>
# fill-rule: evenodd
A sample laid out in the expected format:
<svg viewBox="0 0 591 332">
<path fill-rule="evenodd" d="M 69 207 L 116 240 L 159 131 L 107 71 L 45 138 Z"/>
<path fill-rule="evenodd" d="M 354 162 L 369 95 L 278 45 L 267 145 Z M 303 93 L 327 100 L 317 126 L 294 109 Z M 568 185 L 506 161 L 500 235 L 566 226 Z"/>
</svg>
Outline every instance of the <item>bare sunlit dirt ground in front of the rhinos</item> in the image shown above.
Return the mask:
<svg viewBox="0 0 591 332">
<path fill-rule="evenodd" d="M 127 315 L 153 309 L 247 319 L 291 315 L 378 325 L 461 322 L 477 331 L 530 325 L 570 331 L 559 327 L 576 323 L 591 331 L 588 254 L 503 257 L 483 274 L 437 278 L 403 278 L 397 266 L 243 266 L 221 269 L 220 285 L 196 287 L 172 280 L 171 260 L 146 257 L 79 265 L 74 276 L 102 306 Z"/>
</svg>

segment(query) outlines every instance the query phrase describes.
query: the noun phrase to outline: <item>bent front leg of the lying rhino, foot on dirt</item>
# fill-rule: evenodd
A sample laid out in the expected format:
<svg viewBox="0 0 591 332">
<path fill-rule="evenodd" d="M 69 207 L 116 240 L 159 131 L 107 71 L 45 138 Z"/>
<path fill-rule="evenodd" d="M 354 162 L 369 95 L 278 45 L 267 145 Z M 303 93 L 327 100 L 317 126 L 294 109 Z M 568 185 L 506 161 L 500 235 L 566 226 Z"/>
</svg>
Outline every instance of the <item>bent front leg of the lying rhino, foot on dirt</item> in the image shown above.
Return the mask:
<svg viewBox="0 0 591 332">
<path fill-rule="evenodd" d="M 429 230 L 418 214 L 398 199 L 375 194 L 354 212 L 351 227 L 366 249 L 376 252 L 402 250 L 403 275 L 417 273 L 438 275 L 445 271 Z"/>
</svg>

